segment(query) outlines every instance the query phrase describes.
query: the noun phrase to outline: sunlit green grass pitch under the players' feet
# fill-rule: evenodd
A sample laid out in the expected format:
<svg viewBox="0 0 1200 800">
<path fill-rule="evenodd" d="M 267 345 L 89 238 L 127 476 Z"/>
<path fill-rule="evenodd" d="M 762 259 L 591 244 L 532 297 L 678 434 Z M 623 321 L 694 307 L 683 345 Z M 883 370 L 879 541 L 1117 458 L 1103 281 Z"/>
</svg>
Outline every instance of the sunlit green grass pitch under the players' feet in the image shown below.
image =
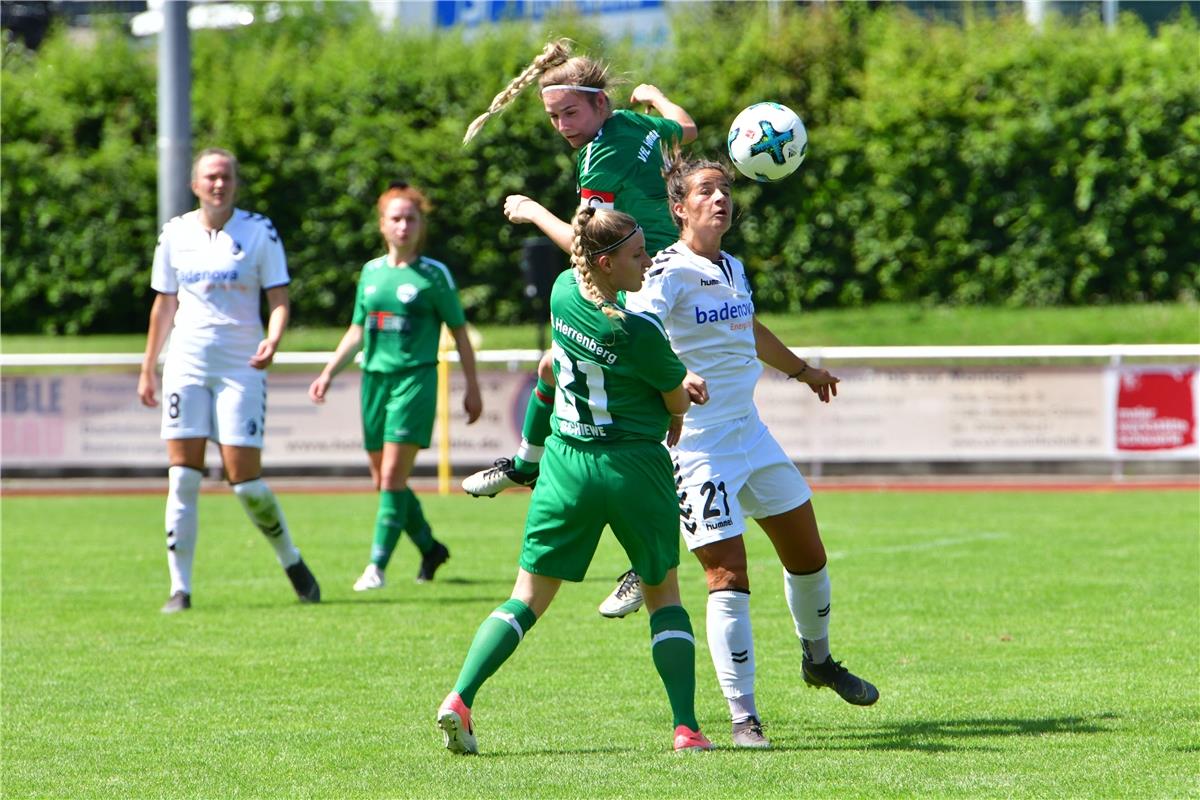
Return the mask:
<svg viewBox="0 0 1200 800">
<path fill-rule="evenodd" d="M 451 551 L 356 595 L 371 494 L 283 494 L 325 602 L 298 604 L 220 488 L 202 499 L 194 608 L 163 616 L 160 497 L 2 504 L 5 798 L 1200 796 L 1194 492 L 817 495 L 834 654 L 870 709 L 799 680 L 766 537 L 748 539 L 758 704 L 775 742 L 732 751 L 680 569 L 714 752 L 670 752 L 644 612 L 595 604 L 611 539 L 476 700 L 482 754 L 433 724 L 515 575 L 527 495 L 425 497 Z"/>
</svg>

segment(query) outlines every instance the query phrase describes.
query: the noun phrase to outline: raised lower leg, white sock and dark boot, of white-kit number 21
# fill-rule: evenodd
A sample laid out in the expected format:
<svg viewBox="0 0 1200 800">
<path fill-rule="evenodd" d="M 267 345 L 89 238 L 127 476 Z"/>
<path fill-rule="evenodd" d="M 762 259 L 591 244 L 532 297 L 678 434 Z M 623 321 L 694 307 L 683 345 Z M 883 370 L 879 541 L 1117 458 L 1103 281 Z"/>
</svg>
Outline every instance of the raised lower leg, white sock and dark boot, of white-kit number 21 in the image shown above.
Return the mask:
<svg viewBox="0 0 1200 800">
<path fill-rule="evenodd" d="M 871 705 L 880 691 L 834 661 L 829 654 L 830 587 L 826 567 L 808 575 L 784 570 L 784 595 L 796 621 L 796 633 L 804 648 L 800 664 L 804 682 L 814 688 L 832 688 L 853 705 Z"/>
</svg>

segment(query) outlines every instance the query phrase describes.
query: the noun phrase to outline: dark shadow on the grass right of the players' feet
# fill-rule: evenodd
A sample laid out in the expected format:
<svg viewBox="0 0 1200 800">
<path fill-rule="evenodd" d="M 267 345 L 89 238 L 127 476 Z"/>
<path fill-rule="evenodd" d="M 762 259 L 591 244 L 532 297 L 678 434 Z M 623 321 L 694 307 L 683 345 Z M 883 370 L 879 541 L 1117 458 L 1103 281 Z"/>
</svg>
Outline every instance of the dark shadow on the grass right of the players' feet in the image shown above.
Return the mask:
<svg viewBox="0 0 1200 800">
<path fill-rule="evenodd" d="M 1109 733 L 1111 727 L 1106 723 L 1116 718 L 1115 714 L 1099 714 L 1087 717 L 914 720 L 828 729 L 815 736 L 810 745 L 784 745 L 774 750 L 911 750 L 930 753 L 997 750 L 983 741 L 1060 733 Z"/>
</svg>

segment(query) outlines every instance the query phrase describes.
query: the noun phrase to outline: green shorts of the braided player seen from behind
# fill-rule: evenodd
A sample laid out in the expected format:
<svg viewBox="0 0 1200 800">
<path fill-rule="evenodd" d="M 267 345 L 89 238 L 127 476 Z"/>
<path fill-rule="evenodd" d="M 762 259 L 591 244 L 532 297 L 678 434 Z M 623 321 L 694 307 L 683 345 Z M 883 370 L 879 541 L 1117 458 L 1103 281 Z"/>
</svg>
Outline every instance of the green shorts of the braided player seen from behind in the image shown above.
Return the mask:
<svg viewBox="0 0 1200 800">
<path fill-rule="evenodd" d="M 521 567 L 582 581 L 605 525 L 647 584 L 662 583 L 679 566 L 679 498 L 667 449 L 655 441 L 578 446 L 550 437 L 526 516 Z"/>
</svg>

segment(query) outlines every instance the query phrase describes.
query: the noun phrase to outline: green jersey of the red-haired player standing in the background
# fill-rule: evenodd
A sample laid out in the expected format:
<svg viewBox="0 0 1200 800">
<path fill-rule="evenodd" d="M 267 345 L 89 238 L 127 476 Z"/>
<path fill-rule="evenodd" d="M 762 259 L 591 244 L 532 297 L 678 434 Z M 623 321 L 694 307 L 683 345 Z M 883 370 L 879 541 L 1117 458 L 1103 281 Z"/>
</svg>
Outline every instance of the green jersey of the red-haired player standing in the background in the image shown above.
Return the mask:
<svg viewBox="0 0 1200 800">
<path fill-rule="evenodd" d="M 391 266 L 382 255 L 362 265 L 353 321 L 364 329 L 362 368 L 400 372 L 437 363 L 442 323 L 461 327 L 466 318 L 445 264 L 422 255 Z"/>
</svg>

